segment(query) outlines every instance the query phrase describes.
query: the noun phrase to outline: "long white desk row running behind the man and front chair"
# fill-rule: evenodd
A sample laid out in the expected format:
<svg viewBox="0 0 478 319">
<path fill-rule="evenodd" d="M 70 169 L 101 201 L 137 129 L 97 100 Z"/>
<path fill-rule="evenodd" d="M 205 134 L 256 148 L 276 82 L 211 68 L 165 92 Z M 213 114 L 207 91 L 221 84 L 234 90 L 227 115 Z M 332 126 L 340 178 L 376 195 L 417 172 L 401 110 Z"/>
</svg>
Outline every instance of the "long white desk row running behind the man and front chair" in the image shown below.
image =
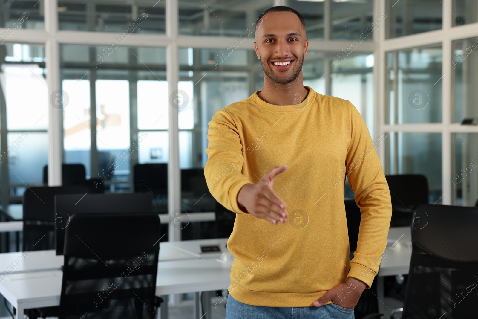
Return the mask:
<svg viewBox="0 0 478 319">
<path fill-rule="evenodd" d="M 403 236 L 402 236 L 403 235 Z M 402 236 L 402 238 L 400 238 Z M 389 239 L 395 242 L 400 238 L 400 242 L 410 239 L 410 228 L 400 227 L 389 231 Z M 227 288 L 230 284 L 230 270 L 232 263 L 223 264 L 219 262 L 216 256 L 212 253 L 200 254 L 201 244 L 221 244 L 221 250 L 227 251 L 224 245 L 227 239 L 210 239 L 210 240 L 195 240 L 183 242 L 163 242 L 160 246 L 160 259 L 163 255 L 163 261 L 158 263 L 158 276 L 156 279 L 156 295 L 163 296 L 165 302 L 162 304 L 161 313 L 162 319 L 167 318 L 167 296 L 170 294 L 181 294 L 198 291 L 213 291 Z M 379 268 L 379 299 L 380 299 L 380 278 L 383 286 L 383 276 L 407 274 L 410 264 L 411 248 L 404 248 L 402 250 L 394 250 L 391 246 L 395 246 L 391 242 L 387 244 L 385 253 L 386 257 L 382 259 Z M 180 248 L 180 249 L 178 249 Z M 43 251 L 52 254 L 53 258 L 60 257 L 61 264 L 63 264 L 63 256 L 54 256 L 54 251 Z M 53 253 L 52 253 L 53 252 Z M 36 254 L 39 255 L 37 256 Z M 29 256 L 35 258 L 40 256 L 42 252 L 31 252 Z M 183 253 L 184 255 L 179 255 Z M 10 255 L 11 254 L 11 255 Z M 14 257 L 15 253 L 0 254 L 0 265 L 8 264 L 9 257 Z M 19 253 L 16 253 L 17 255 Z M 33 255 L 32 255 L 33 254 Z M 220 256 L 220 253 L 216 253 Z M 197 257 L 200 255 L 200 257 Z M 44 253 L 43 256 L 46 256 Z M 178 260 L 167 260 L 167 258 L 176 258 Z M 194 259 L 194 262 L 191 262 Z M 33 258 L 31 259 L 33 260 Z M 58 259 L 57 259 L 58 260 Z M 3 264 L 2 264 L 3 263 Z M 58 261 L 56 262 L 58 264 Z M 45 265 L 48 262 L 45 261 Z M 43 270 L 46 266 L 43 265 Z M 51 263 L 54 265 L 54 262 Z M 18 314 L 23 313 L 23 309 L 58 306 L 60 304 L 60 293 L 63 273 L 58 270 L 32 272 L 33 265 L 29 266 L 30 272 L 26 273 L 12 273 L 6 280 L 0 283 L 0 293 L 17 308 Z M 25 269 L 27 267 L 25 266 Z M 58 268 L 56 268 L 58 269 Z M 196 301 L 197 301 L 196 294 Z M 381 287 L 381 297 L 383 299 L 383 287 Z M 380 302 L 379 302 L 380 304 Z M 197 302 L 196 302 L 196 318 L 197 317 Z M 205 305 L 205 307 L 207 307 Z M 385 311 L 385 310 L 382 310 Z M 388 313 L 387 311 L 382 313 Z"/>
</svg>

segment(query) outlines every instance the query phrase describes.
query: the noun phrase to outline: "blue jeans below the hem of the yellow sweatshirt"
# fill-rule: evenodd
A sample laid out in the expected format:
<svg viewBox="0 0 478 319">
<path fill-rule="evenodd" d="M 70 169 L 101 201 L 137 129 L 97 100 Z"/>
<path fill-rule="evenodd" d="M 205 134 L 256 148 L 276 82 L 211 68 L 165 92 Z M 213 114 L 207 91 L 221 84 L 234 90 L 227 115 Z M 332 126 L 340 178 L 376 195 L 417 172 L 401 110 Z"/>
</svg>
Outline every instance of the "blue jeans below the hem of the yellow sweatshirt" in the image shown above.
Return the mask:
<svg viewBox="0 0 478 319">
<path fill-rule="evenodd" d="M 251 306 L 229 295 L 226 319 L 355 319 L 355 317 L 354 309 L 342 308 L 335 304 L 293 308 Z"/>
</svg>

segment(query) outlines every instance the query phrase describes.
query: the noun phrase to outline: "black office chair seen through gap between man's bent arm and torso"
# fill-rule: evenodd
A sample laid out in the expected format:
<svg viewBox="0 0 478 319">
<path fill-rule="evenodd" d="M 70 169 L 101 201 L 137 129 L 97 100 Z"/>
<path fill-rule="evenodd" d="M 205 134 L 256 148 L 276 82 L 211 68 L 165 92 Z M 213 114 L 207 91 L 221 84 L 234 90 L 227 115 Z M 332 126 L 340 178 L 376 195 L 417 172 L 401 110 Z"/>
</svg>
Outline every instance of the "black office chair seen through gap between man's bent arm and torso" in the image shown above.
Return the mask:
<svg viewBox="0 0 478 319">
<path fill-rule="evenodd" d="M 348 242 L 350 245 L 350 260 L 353 253 L 357 250 L 357 242 L 359 241 L 359 227 L 361 212 L 359 206 L 355 203 L 355 199 L 347 199 L 345 202 L 345 214 L 347 216 Z M 354 308 L 356 318 L 362 318 L 370 313 L 377 314 L 379 312 L 379 304 L 377 300 L 377 276 L 374 277 L 370 289 L 365 289 L 360 296 L 359 302 Z M 373 318 L 373 317 L 372 317 Z"/>
</svg>

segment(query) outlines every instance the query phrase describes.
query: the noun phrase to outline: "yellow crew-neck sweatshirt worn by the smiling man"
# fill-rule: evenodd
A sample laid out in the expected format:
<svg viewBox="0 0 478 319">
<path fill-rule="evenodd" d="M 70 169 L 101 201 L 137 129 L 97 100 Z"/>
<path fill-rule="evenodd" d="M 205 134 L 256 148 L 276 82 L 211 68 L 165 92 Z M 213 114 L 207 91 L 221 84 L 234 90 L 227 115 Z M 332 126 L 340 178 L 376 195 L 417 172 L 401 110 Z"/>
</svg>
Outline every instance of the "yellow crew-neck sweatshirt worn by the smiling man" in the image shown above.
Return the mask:
<svg viewBox="0 0 478 319">
<path fill-rule="evenodd" d="M 390 190 L 364 120 L 350 101 L 304 87 L 300 104 L 269 104 L 256 91 L 209 121 L 204 174 L 214 198 L 236 213 L 228 291 L 245 304 L 313 307 L 349 276 L 369 288 L 387 244 Z M 239 209 L 241 187 L 283 164 L 272 189 L 286 204 L 287 222 L 273 225 Z M 351 261 L 346 176 L 361 211 Z"/>
</svg>

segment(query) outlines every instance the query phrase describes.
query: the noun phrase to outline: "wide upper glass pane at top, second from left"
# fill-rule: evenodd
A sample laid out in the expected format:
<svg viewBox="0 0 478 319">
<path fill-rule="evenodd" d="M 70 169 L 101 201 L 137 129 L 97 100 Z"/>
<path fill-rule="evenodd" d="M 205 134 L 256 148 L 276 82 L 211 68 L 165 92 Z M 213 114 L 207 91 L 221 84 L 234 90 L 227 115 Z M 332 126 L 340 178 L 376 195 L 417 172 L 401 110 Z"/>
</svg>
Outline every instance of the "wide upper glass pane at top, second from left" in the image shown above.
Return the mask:
<svg viewBox="0 0 478 319">
<path fill-rule="evenodd" d="M 59 0 L 58 29 L 120 33 L 112 41 L 127 44 L 132 33 L 165 33 L 164 5 L 164 1 Z"/>
</svg>

